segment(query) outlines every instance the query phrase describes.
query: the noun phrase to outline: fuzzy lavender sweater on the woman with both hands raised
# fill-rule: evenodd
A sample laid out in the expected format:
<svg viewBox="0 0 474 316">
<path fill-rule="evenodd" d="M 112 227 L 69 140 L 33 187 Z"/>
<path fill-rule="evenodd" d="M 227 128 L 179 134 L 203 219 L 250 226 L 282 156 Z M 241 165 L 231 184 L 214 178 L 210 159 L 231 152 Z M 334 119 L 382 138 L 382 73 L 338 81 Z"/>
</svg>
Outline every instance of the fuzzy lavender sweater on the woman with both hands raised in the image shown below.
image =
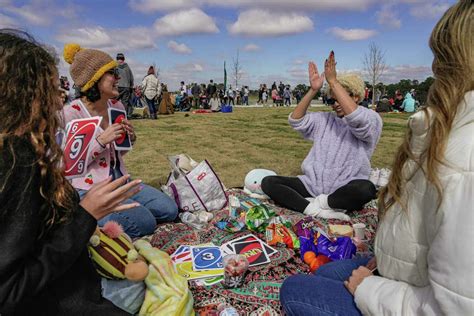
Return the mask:
<svg viewBox="0 0 474 316">
<path fill-rule="evenodd" d="M 309 112 L 290 125 L 313 141 L 298 178 L 316 197 L 331 194 L 349 181 L 368 179 L 370 157 L 382 132 L 382 119 L 375 111 L 359 106 L 339 118 L 334 112 Z"/>
</svg>

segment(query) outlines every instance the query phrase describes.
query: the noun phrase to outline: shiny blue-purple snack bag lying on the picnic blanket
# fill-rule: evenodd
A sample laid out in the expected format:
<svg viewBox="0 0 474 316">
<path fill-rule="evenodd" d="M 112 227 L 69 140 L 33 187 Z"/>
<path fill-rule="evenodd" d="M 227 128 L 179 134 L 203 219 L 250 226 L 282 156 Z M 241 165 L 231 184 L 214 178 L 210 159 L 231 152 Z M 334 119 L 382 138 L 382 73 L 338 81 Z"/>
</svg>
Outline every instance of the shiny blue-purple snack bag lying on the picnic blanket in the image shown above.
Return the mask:
<svg viewBox="0 0 474 316">
<path fill-rule="evenodd" d="M 315 234 L 318 254 L 325 255 L 331 260 L 351 259 L 356 253 L 356 246 L 349 237 L 329 239 L 325 234 L 317 231 Z"/>
</svg>

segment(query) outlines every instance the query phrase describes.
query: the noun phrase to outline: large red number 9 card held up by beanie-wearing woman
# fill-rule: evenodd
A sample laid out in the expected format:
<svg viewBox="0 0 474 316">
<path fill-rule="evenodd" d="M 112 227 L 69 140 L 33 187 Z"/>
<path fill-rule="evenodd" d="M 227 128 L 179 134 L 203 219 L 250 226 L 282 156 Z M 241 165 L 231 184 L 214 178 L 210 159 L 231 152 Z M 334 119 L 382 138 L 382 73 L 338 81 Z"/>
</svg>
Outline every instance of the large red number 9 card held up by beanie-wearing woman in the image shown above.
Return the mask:
<svg viewBox="0 0 474 316">
<path fill-rule="evenodd" d="M 89 151 L 102 117 L 72 120 L 66 126 L 64 166 L 67 179 L 83 177 L 87 173 Z"/>
</svg>

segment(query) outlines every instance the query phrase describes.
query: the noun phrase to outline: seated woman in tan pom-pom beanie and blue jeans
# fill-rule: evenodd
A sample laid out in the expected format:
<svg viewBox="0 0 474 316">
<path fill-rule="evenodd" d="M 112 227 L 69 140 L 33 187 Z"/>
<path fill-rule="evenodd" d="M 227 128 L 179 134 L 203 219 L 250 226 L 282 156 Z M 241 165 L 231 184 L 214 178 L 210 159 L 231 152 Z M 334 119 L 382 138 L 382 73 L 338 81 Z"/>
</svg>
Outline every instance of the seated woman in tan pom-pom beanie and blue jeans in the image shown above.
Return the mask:
<svg viewBox="0 0 474 316">
<path fill-rule="evenodd" d="M 64 57 L 71 64 L 71 77 L 81 91 L 81 98 L 64 107 L 66 123 L 91 116 L 103 118 L 98 136 L 93 140 L 87 174 L 72 180 L 72 185 L 84 196 L 94 183 L 109 176 L 117 179 L 128 174 L 123 160 L 126 151 L 117 150 L 114 141 L 127 132 L 133 143 L 136 135 L 127 120 L 109 124 L 109 108 L 124 110 L 122 103 L 114 99 L 119 92 L 115 72 L 117 64 L 112 57 L 99 50 L 80 48 L 77 44 L 66 45 Z M 146 184 L 142 184 L 140 192 L 128 202 L 137 202 L 139 206 L 110 214 L 100 220 L 99 225 L 114 220 L 129 236 L 139 237 L 152 234 L 157 223 L 173 221 L 178 215 L 178 207 L 169 196 Z"/>
</svg>

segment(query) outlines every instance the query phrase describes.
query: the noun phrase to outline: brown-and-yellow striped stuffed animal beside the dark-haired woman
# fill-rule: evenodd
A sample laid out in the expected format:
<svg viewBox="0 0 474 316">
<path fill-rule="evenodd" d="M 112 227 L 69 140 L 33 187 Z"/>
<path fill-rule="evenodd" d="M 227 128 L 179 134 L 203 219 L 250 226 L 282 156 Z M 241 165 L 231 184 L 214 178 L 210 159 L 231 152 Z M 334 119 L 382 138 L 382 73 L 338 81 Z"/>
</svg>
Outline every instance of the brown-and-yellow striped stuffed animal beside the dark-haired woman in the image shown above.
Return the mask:
<svg viewBox="0 0 474 316">
<path fill-rule="evenodd" d="M 97 272 L 104 278 L 142 281 L 148 275 L 148 264 L 117 222 L 97 227 L 88 249 Z"/>
</svg>

